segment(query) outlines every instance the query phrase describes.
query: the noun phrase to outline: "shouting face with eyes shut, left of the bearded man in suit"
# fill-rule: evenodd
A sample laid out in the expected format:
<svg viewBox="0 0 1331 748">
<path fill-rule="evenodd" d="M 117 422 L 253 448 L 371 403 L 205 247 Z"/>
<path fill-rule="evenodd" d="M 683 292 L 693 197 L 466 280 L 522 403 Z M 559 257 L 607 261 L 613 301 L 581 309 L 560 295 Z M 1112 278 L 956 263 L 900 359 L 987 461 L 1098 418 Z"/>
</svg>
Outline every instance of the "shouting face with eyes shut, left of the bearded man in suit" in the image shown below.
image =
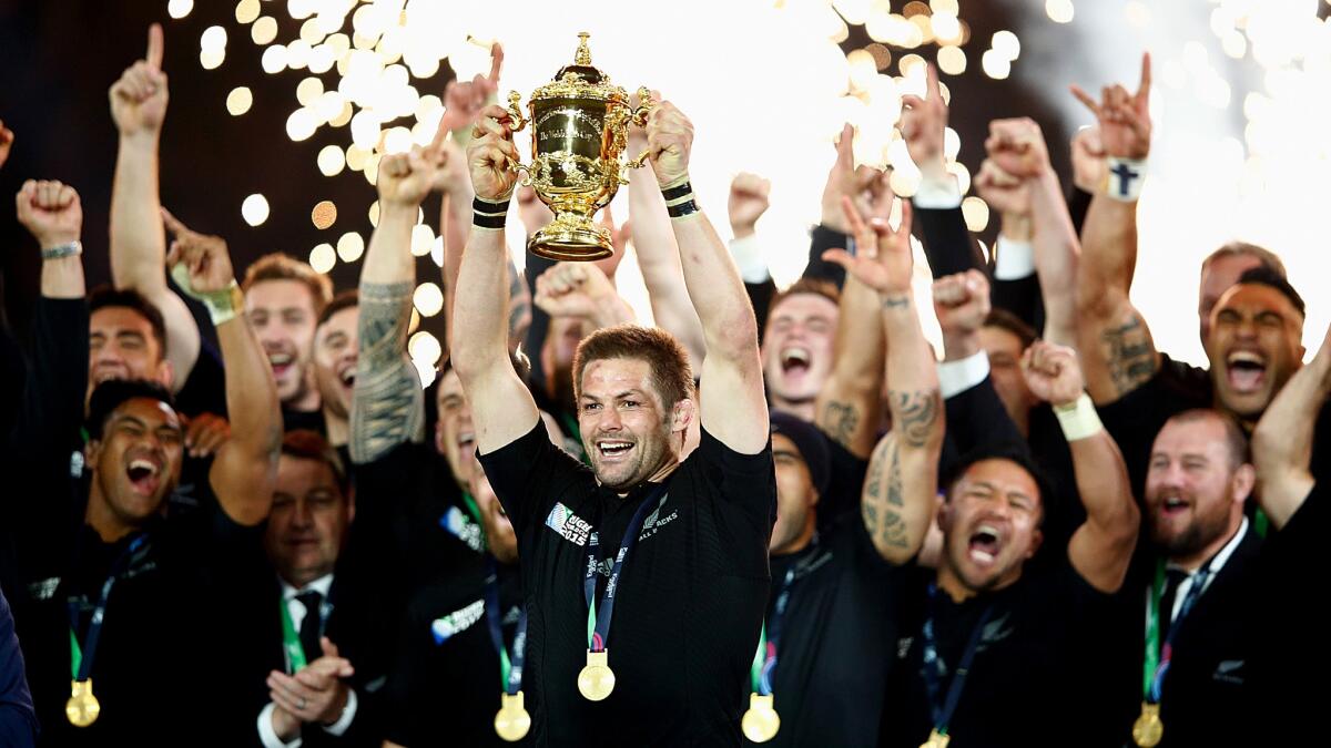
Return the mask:
<svg viewBox="0 0 1331 748">
<path fill-rule="evenodd" d="M 944 563 L 969 590 L 1000 590 L 1021 578 L 1042 535 L 1040 484 L 1020 465 L 984 459 L 966 468 L 938 512 Z"/>
</svg>

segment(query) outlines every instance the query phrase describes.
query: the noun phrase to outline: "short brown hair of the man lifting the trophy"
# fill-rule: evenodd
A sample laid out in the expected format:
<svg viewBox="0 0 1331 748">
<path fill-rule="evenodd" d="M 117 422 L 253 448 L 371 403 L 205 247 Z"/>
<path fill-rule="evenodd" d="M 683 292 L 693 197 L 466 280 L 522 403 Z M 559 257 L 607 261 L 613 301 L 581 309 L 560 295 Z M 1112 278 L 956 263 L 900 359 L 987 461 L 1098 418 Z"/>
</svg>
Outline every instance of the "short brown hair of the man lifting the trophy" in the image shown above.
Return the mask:
<svg viewBox="0 0 1331 748">
<path fill-rule="evenodd" d="M 667 409 L 693 395 L 693 370 L 688 353 L 673 335 L 660 327 L 616 325 L 583 338 L 574 354 L 574 397 L 582 397 L 582 373 L 587 363 L 607 358 L 646 361 L 652 385 Z"/>
</svg>

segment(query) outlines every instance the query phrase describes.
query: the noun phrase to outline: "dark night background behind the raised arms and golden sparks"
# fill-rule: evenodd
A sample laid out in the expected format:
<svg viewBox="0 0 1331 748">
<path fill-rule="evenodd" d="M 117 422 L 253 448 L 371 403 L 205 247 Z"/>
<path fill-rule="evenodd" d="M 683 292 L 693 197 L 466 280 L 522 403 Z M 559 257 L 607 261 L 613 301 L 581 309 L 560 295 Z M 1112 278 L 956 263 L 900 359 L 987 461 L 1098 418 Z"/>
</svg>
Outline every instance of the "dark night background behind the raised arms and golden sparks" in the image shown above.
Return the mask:
<svg viewBox="0 0 1331 748">
<path fill-rule="evenodd" d="M 0 269 L 5 307 L 17 329 L 27 326 L 40 265 L 36 244 L 15 221 L 8 197 L 24 180 L 56 178 L 79 190 L 89 286 L 110 278 L 106 220 L 117 136 L 106 91 L 124 68 L 142 57 L 152 21 L 165 28 L 164 69 L 170 80 L 161 141 L 162 204 L 190 228 L 225 237 L 237 276 L 269 252 L 307 260 L 314 245 L 335 245 L 349 230 L 369 244 L 371 226 L 365 208 L 374 188 L 359 172 L 346 169 L 330 178 L 315 165 L 325 145 L 349 144 L 349 129 L 323 126 L 314 137 L 291 142 L 286 117 L 297 105 L 295 84 L 310 73 L 265 73 L 260 48 L 250 40 L 249 27 L 236 23 L 234 9 L 232 0 L 196 0 L 189 16 L 174 20 L 166 15 L 166 0 L 0 0 L 0 120 L 16 134 L 9 161 L 0 169 Z M 893 9 L 901 12 L 896 4 Z M 277 19 L 278 40 L 293 39 L 302 23 L 286 13 L 281 0 L 265 1 L 264 15 Z M 1028 114 L 1042 122 L 1055 166 L 1066 174 L 1067 149 L 1061 144 L 1069 133 L 1036 92 L 1022 87 L 1021 61 L 1004 81 L 981 72 L 980 55 L 990 35 L 1002 28 L 1020 33 L 1016 19 L 998 4 L 970 1 L 962 7 L 962 20 L 970 27 L 970 41 L 964 47 L 968 68 L 962 76 L 944 76 L 953 92 L 952 126 L 961 136 L 960 160 L 974 173 L 984 160 L 988 121 Z M 198 63 L 198 37 L 214 24 L 228 31 L 226 60 L 205 71 Z M 851 29 L 843 44 L 847 52 L 872 43 L 862 27 Z M 936 51 L 926 45 L 917 52 L 932 61 Z M 910 51 L 890 52 L 889 71 L 896 73 L 897 60 Z M 322 77 L 331 88 L 335 69 Z M 441 94 L 450 77 L 445 64 L 434 79 L 413 84 L 422 94 Z M 254 104 L 233 117 L 225 98 L 237 85 L 252 89 Z M 269 218 L 260 226 L 241 218 L 241 201 L 250 193 L 262 193 L 269 201 Z M 310 210 L 321 200 L 331 200 L 339 209 L 337 222 L 325 230 L 310 221 Z M 438 198 L 427 201 L 425 210 L 438 230 Z M 996 230 L 993 216 L 985 240 Z M 359 262 L 339 261 L 330 273 L 337 287 L 354 287 L 358 268 Z M 418 262 L 417 277 L 438 282 L 438 269 L 429 257 Z M 425 329 L 438 335 L 441 322 L 441 317 L 426 319 Z"/>
</svg>

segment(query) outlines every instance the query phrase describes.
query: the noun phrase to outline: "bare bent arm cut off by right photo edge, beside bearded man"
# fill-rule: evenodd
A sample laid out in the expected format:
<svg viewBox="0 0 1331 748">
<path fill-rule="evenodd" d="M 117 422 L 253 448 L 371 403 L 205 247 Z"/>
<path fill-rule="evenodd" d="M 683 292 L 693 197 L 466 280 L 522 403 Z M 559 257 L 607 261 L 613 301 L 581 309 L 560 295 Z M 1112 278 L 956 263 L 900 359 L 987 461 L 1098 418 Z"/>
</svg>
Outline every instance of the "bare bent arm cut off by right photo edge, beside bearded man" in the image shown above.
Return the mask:
<svg viewBox="0 0 1331 748">
<path fill-rule="evenodd" d="M 1312 361 L 1294 373 L 1266 407 L 1252 433 L 1258 498 L 1276 530 L 1312 491 L 1312 435 L 1331 395 L 1331 330 Z"/>
</svg>

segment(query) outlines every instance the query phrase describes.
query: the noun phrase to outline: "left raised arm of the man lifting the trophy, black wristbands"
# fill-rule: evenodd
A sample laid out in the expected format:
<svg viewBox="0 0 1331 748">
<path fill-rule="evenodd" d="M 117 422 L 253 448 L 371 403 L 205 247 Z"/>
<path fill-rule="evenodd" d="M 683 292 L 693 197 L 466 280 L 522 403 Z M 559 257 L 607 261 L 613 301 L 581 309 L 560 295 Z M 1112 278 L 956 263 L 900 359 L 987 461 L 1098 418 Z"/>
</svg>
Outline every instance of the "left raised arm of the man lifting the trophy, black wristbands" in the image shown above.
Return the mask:
<svg viewBox="0 0 1331 748">
<path fill-rule="evenodd" d="M 453 366 L 471 403 L 476 446 L 482 454 L 527 434 L 540 418 L 531 393 L 508 357 L 508 256 L 503 216 L 518 182 L 512 120 L 500 106 L 487 106 L 467 144 L 471 186 L 482 212 L 473 218 L 458 270 L 453 318 Z"/>
</svg>

